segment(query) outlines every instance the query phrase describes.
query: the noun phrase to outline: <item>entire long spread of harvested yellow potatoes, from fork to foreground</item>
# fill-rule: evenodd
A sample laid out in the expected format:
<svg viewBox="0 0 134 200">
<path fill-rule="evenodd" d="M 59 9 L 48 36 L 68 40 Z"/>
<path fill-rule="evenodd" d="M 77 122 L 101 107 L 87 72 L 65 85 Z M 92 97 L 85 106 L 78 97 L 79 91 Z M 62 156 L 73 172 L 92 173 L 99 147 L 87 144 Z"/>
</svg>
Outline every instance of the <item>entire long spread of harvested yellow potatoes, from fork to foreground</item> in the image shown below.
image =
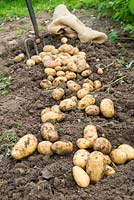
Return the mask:
<svg viewBox="0 0 134 200">
<path fill-rule="evenodd" d="M 104 98 L 96 105 L 95 90 L 102 87 L 99 80 L 92 81 L 89 76 L 91 67 L 86 62 L 86 54 L 77 47 L 66 44 L 67 38 L 62 38 L 63 43 L 59 48 L 54 45 L 46 45 L 43 52 L 34 55 L 26 61 L 28 67 L 42 63 L 46 78 L 40 82 L 43 89 L 52 89 L 52 98 L 58 101 L 57 105 L 46 107 L 41 112 L 41 135 L 44 141 L 38 142 L 32 134 L 20 138 L 12 149 L 12 157 L 19 160 L 31 155 L 36 149 L 43 155 L 65 155 L 73 151 L 71 141 L 59 140 L 59 134 L 53 123 L 65 119 L 65 112 L 72 109 L 85 111 L 88 116 L 96 116 L 100 113 L 106 117 L 114 116 L 114 103 L 111 99 Z M 24 61 L 25 55 L 19 54 L 14 58 L 15 62 Z M 103 69 L 97 70 L 99 75 Z M 77 77 L 82 77 L 81 83 Z M 72 93 L 66 98 L 65 86 Z M 78 138 L 76 145 L 79 148 L 73 156 L 73 177 L 77 185 L 87 187 L 90 183 L 97 183 L 104 175 L 110 176 L 115 172 L 111 164 L 124 164 L 134 159 L 134 148 L 127 144 L 112 149 L 110 141 L 99 137 L 96 126 L 87 125 L 84 128 L 83 137 Z"/>
</svg>

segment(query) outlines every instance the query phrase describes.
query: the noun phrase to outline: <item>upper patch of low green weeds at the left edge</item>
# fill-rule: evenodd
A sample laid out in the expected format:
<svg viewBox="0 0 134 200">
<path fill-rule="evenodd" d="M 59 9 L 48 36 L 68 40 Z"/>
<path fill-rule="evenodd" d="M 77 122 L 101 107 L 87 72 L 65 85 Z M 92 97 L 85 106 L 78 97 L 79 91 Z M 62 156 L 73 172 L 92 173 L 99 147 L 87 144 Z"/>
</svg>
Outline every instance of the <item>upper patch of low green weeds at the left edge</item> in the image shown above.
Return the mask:
<svg viewBox="0 0 134 200">
<path fill-rule="evenodd" d="M 0 71 L 0 94 L 6 95 L 10 92 L 9 85 L 11 84 L 11 76 L 5 75 Z"/>
</svg>

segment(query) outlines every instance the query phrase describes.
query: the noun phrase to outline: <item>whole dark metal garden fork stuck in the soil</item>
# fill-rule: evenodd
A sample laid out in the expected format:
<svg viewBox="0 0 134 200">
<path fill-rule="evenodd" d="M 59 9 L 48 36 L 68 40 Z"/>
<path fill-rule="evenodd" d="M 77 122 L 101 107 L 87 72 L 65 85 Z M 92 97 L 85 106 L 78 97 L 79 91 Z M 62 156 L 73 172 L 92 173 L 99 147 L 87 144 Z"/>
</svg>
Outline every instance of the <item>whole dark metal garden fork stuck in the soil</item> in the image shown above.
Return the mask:
<svg viewBox="0 0 134 200">
<path fill-rule="evenodd" d="M 37 41 L 37 39 L 40 39 L 40 36 L 39 36 L 38 25 L 37 25 L 37 21 L 36 21 L 36 17 L 35 17 L 35 13 L 34 13 L 34 9 L 33 9 L 31 0 L 26 0 L 26 5 L 27 5 L 28 11 L 29 11 L 30 19 L 31 19 L 33 29 L 34 29 L 34 34 L 35 34 L 34 37 L 32 37 L 32 38 L 29 37 L 29 38 L 26 38 L 24 40 L 24 47 L 25 47 L 25 50 L 26 50 L 27 58 L 30 59 L 29 43 L 33 44 L 35 53 L 38 55 L 39 51 L 38 51 L 36 41 Z M 43 40 L 43 46 L 44 45 L 45 45 L 45 42 Z"/>
</svg>

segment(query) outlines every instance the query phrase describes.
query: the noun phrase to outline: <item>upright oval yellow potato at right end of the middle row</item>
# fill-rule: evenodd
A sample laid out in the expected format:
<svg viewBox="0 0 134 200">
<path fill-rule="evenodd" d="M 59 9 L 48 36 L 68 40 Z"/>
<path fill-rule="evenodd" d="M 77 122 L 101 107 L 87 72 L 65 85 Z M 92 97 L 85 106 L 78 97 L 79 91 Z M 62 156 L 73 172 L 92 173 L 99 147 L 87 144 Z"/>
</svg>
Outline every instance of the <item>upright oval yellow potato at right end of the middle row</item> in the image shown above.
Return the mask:
<svg viewBox="0 0 134 200">
<path fill-rule="evenodd" d="M 114 116 L 114 103 L 111 99 L 102 99 L 100 103 L 100 111 L 106 118 Z"/>
</svg>

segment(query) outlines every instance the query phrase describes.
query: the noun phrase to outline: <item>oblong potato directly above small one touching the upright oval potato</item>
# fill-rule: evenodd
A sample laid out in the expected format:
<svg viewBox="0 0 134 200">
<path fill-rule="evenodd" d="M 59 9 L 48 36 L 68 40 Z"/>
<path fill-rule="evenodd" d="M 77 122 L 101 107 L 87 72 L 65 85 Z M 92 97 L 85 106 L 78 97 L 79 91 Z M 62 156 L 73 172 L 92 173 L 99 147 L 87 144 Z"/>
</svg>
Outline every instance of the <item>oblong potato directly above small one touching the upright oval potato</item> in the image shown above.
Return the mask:
<svg viewBox="0 0 134 200">
<path fill-rule="evenodd" d="M 78 109 L 84 110 L 86 107 L 88 107 L 89 105 L 93 105 L 94 103 L 95 98 L 92 95 L 87 94 L 78 102 Z"/>
</svg>

